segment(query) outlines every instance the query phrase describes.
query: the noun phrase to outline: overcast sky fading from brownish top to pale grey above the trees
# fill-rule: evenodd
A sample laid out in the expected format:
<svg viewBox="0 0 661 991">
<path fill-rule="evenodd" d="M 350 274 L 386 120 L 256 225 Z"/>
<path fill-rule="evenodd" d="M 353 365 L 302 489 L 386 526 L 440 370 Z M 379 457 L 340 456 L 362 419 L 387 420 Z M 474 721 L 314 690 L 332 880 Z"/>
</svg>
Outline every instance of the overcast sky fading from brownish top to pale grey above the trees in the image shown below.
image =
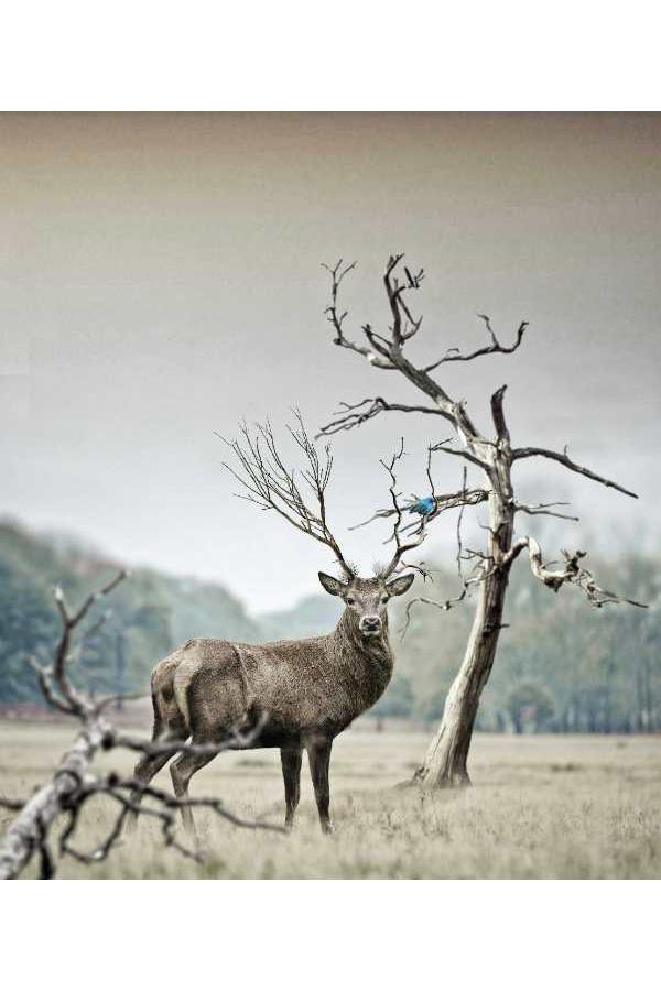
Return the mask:
<svg viewBox="0 0 661 991">
<path fill-rule="evenodd" d="M 322 313 L 319 262 L 357 259 L 351 326 L 383 323 L 383 262 L 405 251 L 427 273 L 414 357 L 481 344 L 478 312 L 505 339 L 530 320 L 514 356 L 443 374 L 478 425 L 507 382 L 516 444 L 568 443 L 640 493 L 528 462 L 524 494 L 583 518 L 552 543 L 659 542 L 658 115 L 3 115 L 0 196 L 3 513 L 219 579 L 253 610 L 315 591 L 329 554 L 231 498 L 214 431 L 414 402 Z M 402 488 L 421 491 L 442 422 L 383 414 L 334 445 L 330 518 L 365 568 L 383 533 L 347 526 L 384 504 L 378 459 L 401 433 Z M 455 459 L 436 473 L 458 486 Z"/>
</svg>

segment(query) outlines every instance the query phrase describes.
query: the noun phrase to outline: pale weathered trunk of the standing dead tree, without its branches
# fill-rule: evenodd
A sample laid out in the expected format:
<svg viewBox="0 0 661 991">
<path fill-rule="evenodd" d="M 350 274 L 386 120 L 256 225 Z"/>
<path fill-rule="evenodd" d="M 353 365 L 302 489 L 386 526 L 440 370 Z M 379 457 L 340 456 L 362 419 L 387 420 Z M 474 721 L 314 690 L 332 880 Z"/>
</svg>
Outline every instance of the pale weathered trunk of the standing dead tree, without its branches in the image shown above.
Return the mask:
<svg viewBox="0 0 661 991">
<path fill-rule="evenodd" d="M 441 726 L 413 777 L 425 788 L 470 784 L 468 751 L 479 700 L 496 657 L 509 582 L 510 565 L 498 566 L 511 547 L 513 534 L 509 467 L 506 454 L 489 476 L 494 494 L 489 498 L 487 577 L 479 585 L 473 629 L 462 666 L 447 693 Z"/>
</svg>

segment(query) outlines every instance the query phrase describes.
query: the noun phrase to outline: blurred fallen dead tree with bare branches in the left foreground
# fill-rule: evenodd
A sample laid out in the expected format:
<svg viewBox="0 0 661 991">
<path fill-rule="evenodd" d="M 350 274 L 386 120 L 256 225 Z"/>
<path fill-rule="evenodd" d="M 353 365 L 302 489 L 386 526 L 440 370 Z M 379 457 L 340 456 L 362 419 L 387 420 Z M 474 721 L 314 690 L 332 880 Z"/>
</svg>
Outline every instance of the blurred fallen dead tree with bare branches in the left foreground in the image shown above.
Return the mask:
<svg viewBox="0 0 661 991">
<path fill-rule="evenodd" d="M 173 748 L 172 741 L 164 744 L 158 739 L 142 740 L 118 731 L 106 718 L 106 711 L 116 701 L 115 696 L 91 701 L 74 686 L 69 677 L 71 662 L 80 650 L 80 642 L 74 644 L 75 634 L 80 631 L 95 602 L 109 595 L 124 577 L 126 571 L 121 571 L 100 591 L 89 595 L 77 610 L 69 608 L 62 589 L 55 589 L 62 633 L 54 662 L 48 667 L 35 661 L 32 665 L 44 699 L 57 711 L 77 720 L 80 729 L 53 775 L 30 798 L 0 797 L 0 806 L 18 813 L 0 840 L 0 880 L 19 878 L 35 856 L 39 857 L 43 879 L 54 876 L 58 857 L 68 856 L 84 864 L 98 863 L 119 842 L 129 816 L 140 815 L 154 819 L 161 826 L 165 846 L 173 847 L 196 861 L 202 859 L 199 851 L 182 843 L 175 835 L 175 814 L 180 808 L 203 806 L 236 826 L 280 831 L 278 826 L 236 816 L 217 798 L 176 798 L 161 788 L 143 784 L 132 775 L 94 772 L 94 760 L 102 751 L 123 748 L 150 758 L 162 753 L 165 747 L 169 751 Z M 101 617 L 89 627 L 84 638 L 96 632 L 104 619 Z M 201 751 L 213 751 L 215 754 L 228 745 L 248 747 L 251 741 L 251 733 L 237 733 L 234 739 L 213 748 L 195 747 L 184 740 L 175 741 L 174 745 L 178 752 L 198 754 Z M 110 829 L 97 848 L 91 851 L 80 850 L 76 846 L 76 830 L 85 805 L 97 795 L 111 799 L 117 812 Z M 148 799 L 147 803 L 140 804 L 139 798 L 142 797 Z M 57 834 L 56 825 L 63 818 L 63 827 Z"/>
</svg>

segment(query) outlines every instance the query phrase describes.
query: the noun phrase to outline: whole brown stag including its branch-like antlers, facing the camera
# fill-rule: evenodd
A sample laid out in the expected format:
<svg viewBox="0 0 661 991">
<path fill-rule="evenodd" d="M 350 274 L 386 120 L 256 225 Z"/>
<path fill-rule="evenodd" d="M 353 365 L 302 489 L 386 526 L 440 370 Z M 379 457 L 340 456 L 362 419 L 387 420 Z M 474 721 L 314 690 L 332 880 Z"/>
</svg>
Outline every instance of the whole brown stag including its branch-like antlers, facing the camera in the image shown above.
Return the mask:
<svg viewBox="0 0 661 991">
<path fill-rule="evenodd" d="M 136 777 L 148 784 L 191 738 L 203 750 L 181 752 L 171 764 L 177 798 L 185 799 L 192 776 L 214 759 L 214 747 L 237 732 L 250 733 L 250 749 L 280 748 L 285 795 L 285 826 L 291 827 L 300 797 L 301 761 L 306 750 L 321 827 L 330 831 L 329 763 L 333 741 L 361 712 L 380 698 L 392 676 L 394 657 L 388 636 L 388 602 L 405 592 L 414 578 L 402 574 L 407 551 L 425 535 L 426 519 L 402 525 L 394 467 L 381 462 L 391 479 L 395 510 L 390 562 L 372 577 L 361 578 L 347 563 L 326 519 L 326 488 L 333 457 L 326 446 L 319 455 L 297 415 L 290 434 L 305 461 L 301 476 L 285 467 L 273 432 L 267 423 L 253 433 L 243 424 L 241 439 L 225 442 L 237 469 L 225 467 L 241 483 L 242 498 L 275 511 L 296 530 L 332 551 L 340 577 L 318 573 L 322 587 L 345 605 L 336 629 L 325 636 L 248 644 L 194 639 L 161 661 L 152 673 L 153 738 L 173 742 L 143 758 Z M 302 493 L 303 479 L 312 493 Z M 405 533 L 405 536 L 402 535 Z M 205 751 L 204 748 L 207 748 Z M 139 801 L 136 795 L 136 801 Z M 194 831 L 191 806 L 182 804 L 185 827 Z"/>
</svg>

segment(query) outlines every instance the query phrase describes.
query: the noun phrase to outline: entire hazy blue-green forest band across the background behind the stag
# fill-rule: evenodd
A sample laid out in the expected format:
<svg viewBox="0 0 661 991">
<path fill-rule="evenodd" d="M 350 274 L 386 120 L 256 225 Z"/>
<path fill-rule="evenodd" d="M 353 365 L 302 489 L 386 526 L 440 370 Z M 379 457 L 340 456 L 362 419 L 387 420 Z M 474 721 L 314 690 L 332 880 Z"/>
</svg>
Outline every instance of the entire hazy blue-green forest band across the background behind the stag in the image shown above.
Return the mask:
<svg viewBox="0 0 661 991">
<path fill-rule="evenodd" d="M 629 554 L 593 564 L 606 587 L 610 582 L 650 609 L 593 609 L 572 588 L 554 595 L 532 580 L 520 563 L 512 574 L 509 628 L 480 706 L 480 729 L 661 730 L 659 560 Z M 28 658 L 47 657 L 57 635 L 53 586 L 61 585 L 75 603 L 119 567 L 120 562 L 73 538 L 35 535 L 14 522 L 0 524 L 1 705 L 40 699 Z M 445 599 L 457 590 L 457 576 L 447 569 L 434 587 L 427 585 L 425 595 Z M 338 617 L 337 600 L 324 593 L 282 612 L 250 617 L 221 585 L 151 568 L 133 570 L 102 608 L 109 605 L 111 614 L 82 645 L 77 661 L 79 686 L 96 695 L 145 693 L 154 663 L 189 636 L 242 641 L 312 636 L 328 632 Z M 465 601 L 449 612 L 415 606 L 400 642 L 404 608 L 398 603 L 391 618 L 397 672 L 370 715 L 435 722 L 462 658 L 473 603 Z"/>
</svg>

